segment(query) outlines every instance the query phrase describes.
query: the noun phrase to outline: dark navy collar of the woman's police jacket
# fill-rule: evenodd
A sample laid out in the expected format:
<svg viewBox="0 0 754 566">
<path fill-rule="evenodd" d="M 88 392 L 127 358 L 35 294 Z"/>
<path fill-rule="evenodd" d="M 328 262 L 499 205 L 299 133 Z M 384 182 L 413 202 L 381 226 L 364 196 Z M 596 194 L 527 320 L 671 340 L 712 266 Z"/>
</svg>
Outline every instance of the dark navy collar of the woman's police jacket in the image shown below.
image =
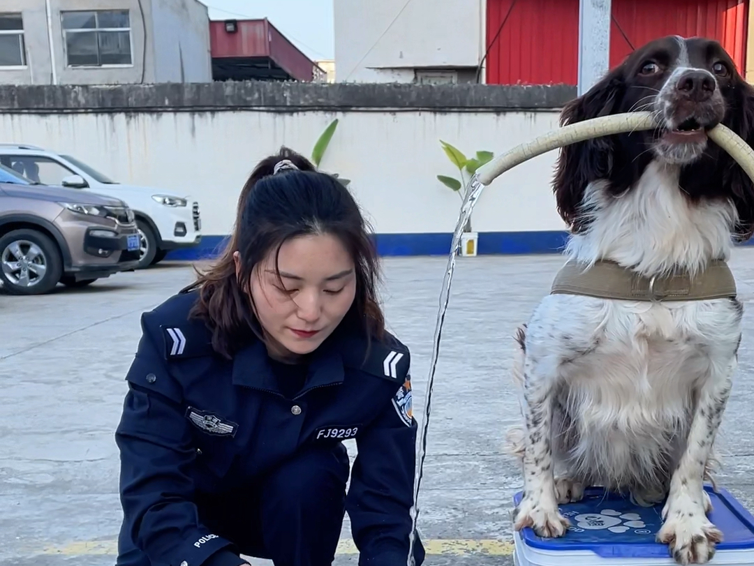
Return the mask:
<svg viewBox="0 0 754 566">
<path fill-rule="evenodd" d="M 268 362 L 267 347 L 261 340 L 254 340 L 236 353 L 232 375 L 234 385 L 281 394 Z M 344 379 L 345 370 L 339 349 L 326 341 L 311 356 L 306 381 L 298 396 L 316 387 L 340 384 Z"/>
</svg>

